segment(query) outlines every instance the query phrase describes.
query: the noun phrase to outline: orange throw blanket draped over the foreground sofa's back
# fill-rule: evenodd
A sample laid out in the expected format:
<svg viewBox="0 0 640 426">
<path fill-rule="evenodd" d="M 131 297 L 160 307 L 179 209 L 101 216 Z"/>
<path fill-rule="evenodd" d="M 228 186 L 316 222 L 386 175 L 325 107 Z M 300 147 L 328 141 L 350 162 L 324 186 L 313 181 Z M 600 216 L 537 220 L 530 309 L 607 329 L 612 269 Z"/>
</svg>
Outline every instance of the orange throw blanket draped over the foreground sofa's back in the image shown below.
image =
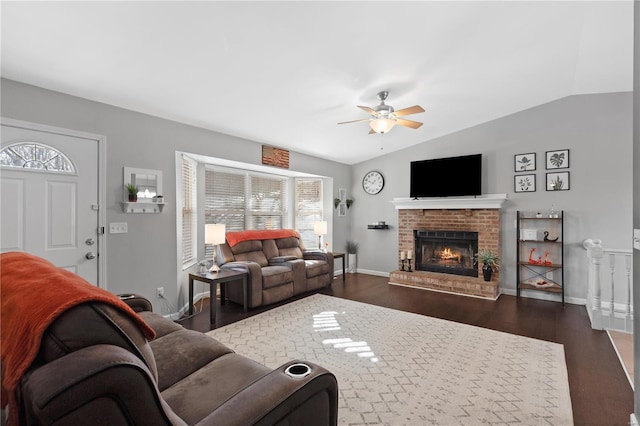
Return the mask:
<svg viewBox="0 0 640 426">
<path fill-rule="evenodd" d="M 126 303 L 78 275 L 22 252 L 0 254 L 2 407 L 10 403 L 9 421 L 18 424 L 15 390 L 40 350 L 47 327 L 80 303 L 108 303 L 129 314 L 147 339 L 155 332 Z"/>
</svg>

